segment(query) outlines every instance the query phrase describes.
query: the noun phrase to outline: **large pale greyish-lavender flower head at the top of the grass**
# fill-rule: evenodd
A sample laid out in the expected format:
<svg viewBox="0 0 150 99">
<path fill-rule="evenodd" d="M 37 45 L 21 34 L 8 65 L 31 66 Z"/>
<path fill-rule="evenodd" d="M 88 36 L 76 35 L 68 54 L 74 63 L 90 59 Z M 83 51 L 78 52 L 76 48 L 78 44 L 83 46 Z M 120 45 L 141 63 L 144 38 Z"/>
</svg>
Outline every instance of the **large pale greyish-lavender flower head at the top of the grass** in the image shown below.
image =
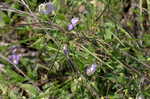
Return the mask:
<svg viewBox="0 0 150 99">
<path fill-rule="evenodd" d="M 39 12 L 42 14 L 49 14 L 49 13 L 52 13 L 52 11 L 54 10 L 55 8 L 51 2 L 43 3 L 39 5 Z"/>
</svg>

